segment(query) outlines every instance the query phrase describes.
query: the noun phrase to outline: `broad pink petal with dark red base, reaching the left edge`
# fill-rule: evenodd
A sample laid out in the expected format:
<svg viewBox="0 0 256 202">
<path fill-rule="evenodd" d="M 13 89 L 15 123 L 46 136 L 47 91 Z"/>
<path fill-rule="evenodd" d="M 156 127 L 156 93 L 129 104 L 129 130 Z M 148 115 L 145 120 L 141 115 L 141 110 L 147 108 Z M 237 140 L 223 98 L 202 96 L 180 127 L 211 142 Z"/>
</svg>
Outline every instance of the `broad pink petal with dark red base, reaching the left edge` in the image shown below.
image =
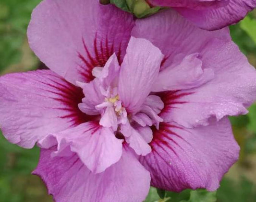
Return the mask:
<svg viewBox="0 0 256 202">
<path fill-rule="evenodd" d="M 49 133 L 94 120 L 77 105 L 80 88 L 50 70 L 0 77 L 0 126 L 12 143 L 32 148 Z"/>
</svg>

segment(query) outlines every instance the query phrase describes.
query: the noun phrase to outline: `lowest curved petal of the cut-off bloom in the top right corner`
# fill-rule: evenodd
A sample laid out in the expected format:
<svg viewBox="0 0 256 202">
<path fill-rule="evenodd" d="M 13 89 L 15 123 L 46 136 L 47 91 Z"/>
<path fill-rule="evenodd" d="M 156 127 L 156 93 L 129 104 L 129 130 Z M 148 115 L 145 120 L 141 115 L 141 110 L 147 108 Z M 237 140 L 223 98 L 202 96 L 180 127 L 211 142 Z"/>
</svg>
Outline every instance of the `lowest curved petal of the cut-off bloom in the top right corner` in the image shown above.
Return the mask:
<svg viewBox="0 0 256 202">
<path fill-rule="evenodd" d="M 207 30 L 216 30 L 242 20 L 245 15 L 256 8 L 256 0 L 229 0 L 229 3 L 220 8 L 176 8 L 189 21 L 198 27 Z"/>
</svg>

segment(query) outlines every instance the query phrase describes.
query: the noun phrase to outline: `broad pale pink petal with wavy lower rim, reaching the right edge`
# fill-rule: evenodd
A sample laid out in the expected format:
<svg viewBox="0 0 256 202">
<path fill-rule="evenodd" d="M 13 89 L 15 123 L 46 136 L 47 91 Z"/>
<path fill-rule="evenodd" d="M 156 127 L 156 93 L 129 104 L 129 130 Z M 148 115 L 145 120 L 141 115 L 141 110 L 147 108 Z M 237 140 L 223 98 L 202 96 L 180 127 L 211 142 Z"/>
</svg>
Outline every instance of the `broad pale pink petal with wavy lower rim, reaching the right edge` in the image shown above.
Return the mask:
<svg viewBox="0 0 256 202">
<path fill-rule="evenodd" d="M 256 100 L 256 71 L 232 42 L 213 40 L 202 50 L 205 67 L 215 78 L 199 88 L 182 90 L 175 96 L 161 95 L 165 108 L 161 117 L 185 127 L 207 125 L 210 118 L 245 114 Z"/>
</svg>

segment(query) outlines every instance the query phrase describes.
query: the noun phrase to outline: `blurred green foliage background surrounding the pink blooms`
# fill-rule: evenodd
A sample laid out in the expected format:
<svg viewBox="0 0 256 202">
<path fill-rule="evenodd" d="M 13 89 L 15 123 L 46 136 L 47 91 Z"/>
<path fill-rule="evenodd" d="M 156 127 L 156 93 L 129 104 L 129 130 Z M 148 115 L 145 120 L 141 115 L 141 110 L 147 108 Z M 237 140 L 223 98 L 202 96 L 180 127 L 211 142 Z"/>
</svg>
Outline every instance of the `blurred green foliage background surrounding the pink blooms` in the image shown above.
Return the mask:
<svg viewBox="0 0 256 202">
<path fill-rule="evenodd" d="M 40 0 L 0 1 L 0 74 L 37 69 L 42 64 L 30 50 L 26 28 Z M 256 67 L 256 11 L 230 27 L 234 42 Z M 159 200 L 151 189 L 146 202 L 256 202 L 256 105 L 249 114 L 232 117 L 233 131 L 241 146 L 239 161 L 230 169 L 216 192 L 186 190 L 166 193 Z M 39 149 L 26 150 L 0 135 L 0 202 L 52 202 L 43 182 L 31 175 Z"/>
</svg>

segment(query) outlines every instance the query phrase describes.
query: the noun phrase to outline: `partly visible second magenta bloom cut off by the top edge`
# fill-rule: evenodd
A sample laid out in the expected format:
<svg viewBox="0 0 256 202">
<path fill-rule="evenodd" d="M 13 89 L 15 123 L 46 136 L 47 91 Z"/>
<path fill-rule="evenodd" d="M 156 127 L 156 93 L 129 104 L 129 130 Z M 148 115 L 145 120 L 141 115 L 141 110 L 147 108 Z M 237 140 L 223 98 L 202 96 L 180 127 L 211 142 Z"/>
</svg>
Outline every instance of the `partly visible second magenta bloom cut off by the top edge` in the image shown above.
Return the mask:
<svg viewBox="0 0 256 202">
<path fill-rule="evenodd" d="M 152 6 L 171 7 L 198 27 L 216 30 L 242 20 L 256 8 L 256 0 L 147 0 Z"/>
</svg>

